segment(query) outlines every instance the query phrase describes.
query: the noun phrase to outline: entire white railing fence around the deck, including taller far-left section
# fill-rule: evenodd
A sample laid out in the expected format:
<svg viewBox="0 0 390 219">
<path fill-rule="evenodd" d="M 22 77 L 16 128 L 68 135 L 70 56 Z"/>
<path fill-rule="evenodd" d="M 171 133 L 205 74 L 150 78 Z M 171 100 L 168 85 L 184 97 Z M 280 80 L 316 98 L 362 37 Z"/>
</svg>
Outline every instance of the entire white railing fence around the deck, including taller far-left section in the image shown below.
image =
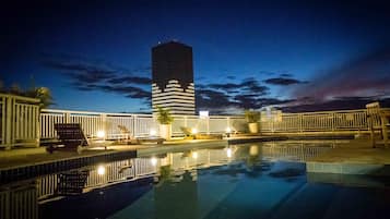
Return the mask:
<svg viewBox="0 0 390 219">
<path fill-rule="evenodd" d="M 38 99 L 0 94 L 0 147 L 39 145 L 39 138 L 56 138 L 55 123 L 80 123 L 87 136 L 105 131 L 106 138 L 120 136 L 118 125 L 131 136 L 145 136 L 158 124 L 152 114 L 107 113 L 44 109 L 39 115 Z M 389 109 L 386 109 L 389 110 Z M 364 132 L 368 130 L 366 109 L 305 113 L 262 112 L 261 133 Z M 199 133 L 247 132 L 244 117 L 175 115 L 173 135 L 184 135 L 180 127 L 194 127 Z M 39 129 L 40 127 L 40 129 Z"/>
</svg>

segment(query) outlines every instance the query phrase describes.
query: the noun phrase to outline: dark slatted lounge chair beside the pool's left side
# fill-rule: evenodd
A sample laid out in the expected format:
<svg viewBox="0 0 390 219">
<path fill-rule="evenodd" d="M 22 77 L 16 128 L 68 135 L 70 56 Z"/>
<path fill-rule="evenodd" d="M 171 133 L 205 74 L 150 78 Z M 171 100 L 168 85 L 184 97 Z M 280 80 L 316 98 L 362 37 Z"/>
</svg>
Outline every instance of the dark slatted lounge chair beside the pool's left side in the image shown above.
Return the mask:
<svg viewBox="0 0 390 219">
<path fill-rule="evenodd" d="M 80 153 L 83 148 L 90 146 L 79 123 L 56 123 L 55 130 L 60 144 L 64 146 L 62 149 L 76 150 Z M 106 145 L 104 147 L 107 148 Z M 49 151 L 51 153 L 54 149 L 55 148 L 50 146 Z"/>
</svg>

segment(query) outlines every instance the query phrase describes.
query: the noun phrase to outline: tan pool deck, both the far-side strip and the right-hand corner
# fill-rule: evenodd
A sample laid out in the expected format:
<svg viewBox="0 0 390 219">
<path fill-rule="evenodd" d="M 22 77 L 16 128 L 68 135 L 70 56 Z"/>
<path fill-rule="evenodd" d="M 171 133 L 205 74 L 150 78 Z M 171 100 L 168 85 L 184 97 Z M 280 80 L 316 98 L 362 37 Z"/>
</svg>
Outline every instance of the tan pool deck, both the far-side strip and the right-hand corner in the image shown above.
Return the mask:
<svg viewBox="0 0 390 219">
<path fill-rule="evenodd" d="M 153 156 L 157 154 L 179 151 L 202 147 L 223 147 L 228 144 L 240 144 L 249 142 L 261 142 L 272 139 L 285 139 L 281 136 L 235 136 L 225 139 L 173 139 L 157 144 L 142 145 L 109 145 L 76 151 L 58 150 L 52 154 L 46 151 L 45 147 L 12 149 L 0 151 L 0 172 L 25 169 L 34 166 L 56 166 L 62 163 L 66 170 L 66 161 L 76 161 L 79 166 L 109 159 L 126 159 L 127 157 Z M 91 160 L 91 161 L 86 161 Z M 390 148 L 371 148 L 368 139 L 350 139 L 341 143 L 335 148 L 311 158 L 307 161 L 309 173 L 342 173 L 342 174 L 374 174 L 390 175 Z M 42 167 L 46 170 L 46 167 Z M 25 169 L 24 172 L 29 170 Z M 10 173 L 10 172 L 9 172 Z M 19 172 L 17 172 L 19 173 Z M 22 172 L 23 173 L 23 172 Z M 21 173 L 21 174 L 22 174 Z M 0 175 L 1 177 L 1 175 Z"/>
</svg>

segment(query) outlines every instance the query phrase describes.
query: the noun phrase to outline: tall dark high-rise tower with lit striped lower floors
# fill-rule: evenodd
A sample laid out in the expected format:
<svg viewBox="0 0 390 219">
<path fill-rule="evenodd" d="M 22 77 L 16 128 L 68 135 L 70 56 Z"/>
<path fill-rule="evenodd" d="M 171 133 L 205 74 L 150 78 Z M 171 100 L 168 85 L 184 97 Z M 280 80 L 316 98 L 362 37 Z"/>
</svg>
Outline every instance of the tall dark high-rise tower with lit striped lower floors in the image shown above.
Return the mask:
<svg viewBox="0 0 390 219">
<path fill-rule="evenodd" d="M 152 107 L 194 114 L 192 48 L 169 41 L 152 48 Z"/>
</svg>

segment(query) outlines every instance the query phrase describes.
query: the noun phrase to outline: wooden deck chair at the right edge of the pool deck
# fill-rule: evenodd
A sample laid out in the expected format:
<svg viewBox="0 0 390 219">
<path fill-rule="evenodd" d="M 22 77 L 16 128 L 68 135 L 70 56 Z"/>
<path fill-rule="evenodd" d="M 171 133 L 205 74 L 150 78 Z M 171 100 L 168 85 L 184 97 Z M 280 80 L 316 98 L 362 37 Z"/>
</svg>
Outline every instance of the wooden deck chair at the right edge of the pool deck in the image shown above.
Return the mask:
<svg viewBox="0 0 390 219">
<path fill-rule="evenodd" d="M 367 108 L 367 123 L 370 132 L 371 146 L 376 147 L 375 133 L 379 132 L 381 138 L 385 142 L 385 146 L 388 146 L 388 124 L 386 118 L 381 114 L 379 102 L 370 102 L 366 105 Z"/>
</svg>

